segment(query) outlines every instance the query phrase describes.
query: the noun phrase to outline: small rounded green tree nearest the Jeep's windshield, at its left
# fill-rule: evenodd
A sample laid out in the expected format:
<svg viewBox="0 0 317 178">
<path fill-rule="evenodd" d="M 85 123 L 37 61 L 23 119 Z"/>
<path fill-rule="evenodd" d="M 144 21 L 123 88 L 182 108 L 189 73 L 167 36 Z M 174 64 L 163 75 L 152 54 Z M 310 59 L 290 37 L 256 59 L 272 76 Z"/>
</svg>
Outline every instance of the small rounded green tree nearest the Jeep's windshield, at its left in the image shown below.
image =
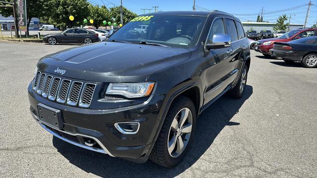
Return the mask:
<svg viewBox="0 0 317 178">
<path fill-rule="evenodd" d="M 98 29 L 98 27 L 103 25 L 104 20 L 106 20 L 107 22 L 110 20 L 109 17 L 109 11 L 106 8 L 106 6 L 101 6 L 99 7 L 98 5 L 92 5 L 90 4 L 88 6 L 89 8 L 89 17 L 88 17 L 88 21 L 90 19 L 94 20 L 94 26 Z"/>
</svg>

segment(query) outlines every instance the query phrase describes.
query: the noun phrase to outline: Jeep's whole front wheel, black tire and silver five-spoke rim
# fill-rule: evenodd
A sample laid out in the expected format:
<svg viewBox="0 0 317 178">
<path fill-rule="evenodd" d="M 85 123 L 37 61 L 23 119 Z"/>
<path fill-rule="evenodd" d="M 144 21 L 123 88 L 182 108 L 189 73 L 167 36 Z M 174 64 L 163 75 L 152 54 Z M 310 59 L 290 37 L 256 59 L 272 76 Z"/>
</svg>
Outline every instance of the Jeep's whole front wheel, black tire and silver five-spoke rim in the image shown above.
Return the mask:
<svg viewBox="0 0 317 178">
<path fill-rule="evenodd" d="M 196 125 L 194 103 L 188 97 L 177 97 L 168 110 L 150 159 L 164 167 L 174 167 L 184 158 Z"/>
</svg>

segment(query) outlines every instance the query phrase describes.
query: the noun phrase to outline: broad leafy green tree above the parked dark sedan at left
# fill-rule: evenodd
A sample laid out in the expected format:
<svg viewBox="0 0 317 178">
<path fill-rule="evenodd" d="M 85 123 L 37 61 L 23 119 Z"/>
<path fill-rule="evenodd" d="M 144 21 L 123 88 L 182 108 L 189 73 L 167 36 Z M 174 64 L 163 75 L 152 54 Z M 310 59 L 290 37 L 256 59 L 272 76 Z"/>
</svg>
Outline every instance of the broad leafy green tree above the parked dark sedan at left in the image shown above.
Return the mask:
<svg viewBox="0 0 317 178">
<path fill-rule="evenodd" d="M 87 0 L 49 0 L 49 22 L 56 27 L 65 29 L 66 26 L 79 26 L 89 15 Z M 74 21 L 69 16 L 74 16 Z"/>
</svg>

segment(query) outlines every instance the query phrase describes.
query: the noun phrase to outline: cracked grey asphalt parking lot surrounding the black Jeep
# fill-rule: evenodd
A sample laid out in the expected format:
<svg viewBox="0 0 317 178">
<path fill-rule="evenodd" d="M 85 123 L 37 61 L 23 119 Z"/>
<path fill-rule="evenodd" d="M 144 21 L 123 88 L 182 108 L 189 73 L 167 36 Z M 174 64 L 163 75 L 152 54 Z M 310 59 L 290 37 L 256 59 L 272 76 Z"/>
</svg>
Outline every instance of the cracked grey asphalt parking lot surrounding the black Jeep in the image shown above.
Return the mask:
<svg viewBox="0 0 317 178">
<path fill-rule="evenodd" d="M 37 61 L 73 46 L 0 42 L 0 177 L 317 176 L 317 68 L 252 51 L 244 97 L 206 109 L 186 158 L 166 169 L 78 148 L 34 121 L 27 86 Z"/>
</svg>

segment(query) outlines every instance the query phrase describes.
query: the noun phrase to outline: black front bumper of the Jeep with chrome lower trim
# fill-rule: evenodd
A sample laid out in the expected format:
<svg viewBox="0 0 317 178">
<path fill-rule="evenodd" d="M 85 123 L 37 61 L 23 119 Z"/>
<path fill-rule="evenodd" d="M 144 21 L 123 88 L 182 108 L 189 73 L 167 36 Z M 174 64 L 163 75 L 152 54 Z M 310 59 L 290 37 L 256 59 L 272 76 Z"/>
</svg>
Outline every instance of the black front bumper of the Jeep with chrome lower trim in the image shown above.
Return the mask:
<svg viewBox="0 0 317 178">
<path fill-rule="evenodd" d="M 126 109 L 96 110 L 55 103 L 36 94 L 31 85 L 28 88 L 28 96 L 32 116 L 51 134 L 89 150 L 139 163 L 147 161 L 155 143 L 165 98 L 164 95 L 152 95 L 145 105 L 130 106 Z M 61 111 L 62 129 L 53 128 L 39 119 L 39 103 Z M 119 122 L 138 122 L 139 131 L 136 134 L 122 134 L 114 127 L 114 124 Z M 63 137 L 60 132 L 77 137 L 79 142 L 68 139 L 68 136 Z M 85 145 L 82 139 L 87 137 L 95 140 L 98 143 L 97 147 Z"/>
</svg>

